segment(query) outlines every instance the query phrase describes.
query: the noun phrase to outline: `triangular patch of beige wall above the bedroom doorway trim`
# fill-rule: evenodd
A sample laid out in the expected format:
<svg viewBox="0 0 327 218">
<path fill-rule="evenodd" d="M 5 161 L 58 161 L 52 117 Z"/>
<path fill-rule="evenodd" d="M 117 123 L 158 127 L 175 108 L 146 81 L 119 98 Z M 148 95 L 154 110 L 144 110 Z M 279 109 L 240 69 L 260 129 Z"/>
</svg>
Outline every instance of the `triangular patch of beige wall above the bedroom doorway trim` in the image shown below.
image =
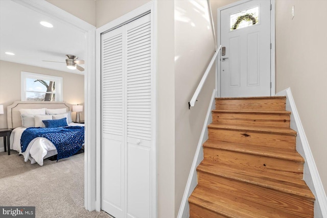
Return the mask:
<svg viewBox="0 0 327 218">
<path fill-rule="evenodd" d="M 68 13 L 96 26 L 95 0 L 46 0 Z"/>
</svg>

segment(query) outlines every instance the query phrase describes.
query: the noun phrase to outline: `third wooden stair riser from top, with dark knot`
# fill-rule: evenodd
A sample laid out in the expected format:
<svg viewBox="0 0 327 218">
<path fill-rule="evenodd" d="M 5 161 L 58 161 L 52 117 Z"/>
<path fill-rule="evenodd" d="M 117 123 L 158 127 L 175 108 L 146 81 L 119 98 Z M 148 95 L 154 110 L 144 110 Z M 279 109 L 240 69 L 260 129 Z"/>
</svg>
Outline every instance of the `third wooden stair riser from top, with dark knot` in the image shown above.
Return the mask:
<svg viewBox="0 0 327 218">
<path fill-rule="evenodd" d="M 208 135 L 210 139 L 214 140 L 295 150 L 296 137 L 293 135 L 277 135 L 212 128 L 208 128 Z"/>
</svg>

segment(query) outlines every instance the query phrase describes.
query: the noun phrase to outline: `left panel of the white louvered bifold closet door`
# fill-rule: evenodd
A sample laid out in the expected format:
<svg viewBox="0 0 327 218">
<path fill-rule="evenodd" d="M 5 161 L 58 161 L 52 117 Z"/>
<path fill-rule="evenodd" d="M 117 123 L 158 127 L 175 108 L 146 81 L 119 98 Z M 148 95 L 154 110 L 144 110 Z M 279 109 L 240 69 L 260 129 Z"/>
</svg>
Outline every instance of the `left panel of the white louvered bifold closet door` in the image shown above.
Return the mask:
<svg viewBox="0 0 327 218">
<path fill-rule="evenodd" d="M 124 54 L 125 28 L 102 35 L 101 207 L 124 217 Z"/>
</svg>

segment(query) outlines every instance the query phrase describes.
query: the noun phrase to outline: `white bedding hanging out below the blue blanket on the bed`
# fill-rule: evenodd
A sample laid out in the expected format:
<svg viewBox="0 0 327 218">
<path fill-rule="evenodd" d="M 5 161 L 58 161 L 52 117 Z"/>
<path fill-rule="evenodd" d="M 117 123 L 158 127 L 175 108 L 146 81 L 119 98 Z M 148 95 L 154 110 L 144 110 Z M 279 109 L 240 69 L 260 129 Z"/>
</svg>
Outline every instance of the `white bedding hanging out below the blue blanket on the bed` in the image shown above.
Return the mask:
<svg viewBox="0 0 327 218">
<path fill-rule="evenodd" d="M 84 124 L 71 123 L 69 126 L 84 126 Z M 22 154 L 25 162 L 30 160 L 32 164 L 38 163 L 40 166 L 42 166 L 43 159 L 57 154 L 57 149 L 54 144 L 48 139 L 42 137 L 34 138 L 29 143 L 26 151 L 21 153 L 20 137 L 24 130 L 26 130 L 26 128 L 18 127 L 11 132 L 10 149 L 16 150 L 19 152 L 19 154 Z"/>
</svg>

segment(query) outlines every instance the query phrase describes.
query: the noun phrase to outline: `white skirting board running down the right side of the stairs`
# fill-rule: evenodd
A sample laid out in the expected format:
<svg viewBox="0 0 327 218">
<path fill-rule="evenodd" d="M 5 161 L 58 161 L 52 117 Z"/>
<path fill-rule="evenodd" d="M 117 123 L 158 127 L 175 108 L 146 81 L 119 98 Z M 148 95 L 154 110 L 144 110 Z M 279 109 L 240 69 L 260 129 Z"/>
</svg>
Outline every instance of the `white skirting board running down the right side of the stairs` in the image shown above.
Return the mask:
<svg viewBox="0 0 327 218">
<path fill-rule="evenodd" d="M 316 201 L 314 204 L 314 217 L 327 218 L 327 197 L 323 189 L 316 163 L 314 161 L 309 142 L 298 115 L 290 88 L 276 93 L 277 96 L 287 96 L 286 110 L 291 111 L 291 128 L 297 132 L 296 150 L 305 158 L 303 180 L 313 192 Z"/>
</svg>

